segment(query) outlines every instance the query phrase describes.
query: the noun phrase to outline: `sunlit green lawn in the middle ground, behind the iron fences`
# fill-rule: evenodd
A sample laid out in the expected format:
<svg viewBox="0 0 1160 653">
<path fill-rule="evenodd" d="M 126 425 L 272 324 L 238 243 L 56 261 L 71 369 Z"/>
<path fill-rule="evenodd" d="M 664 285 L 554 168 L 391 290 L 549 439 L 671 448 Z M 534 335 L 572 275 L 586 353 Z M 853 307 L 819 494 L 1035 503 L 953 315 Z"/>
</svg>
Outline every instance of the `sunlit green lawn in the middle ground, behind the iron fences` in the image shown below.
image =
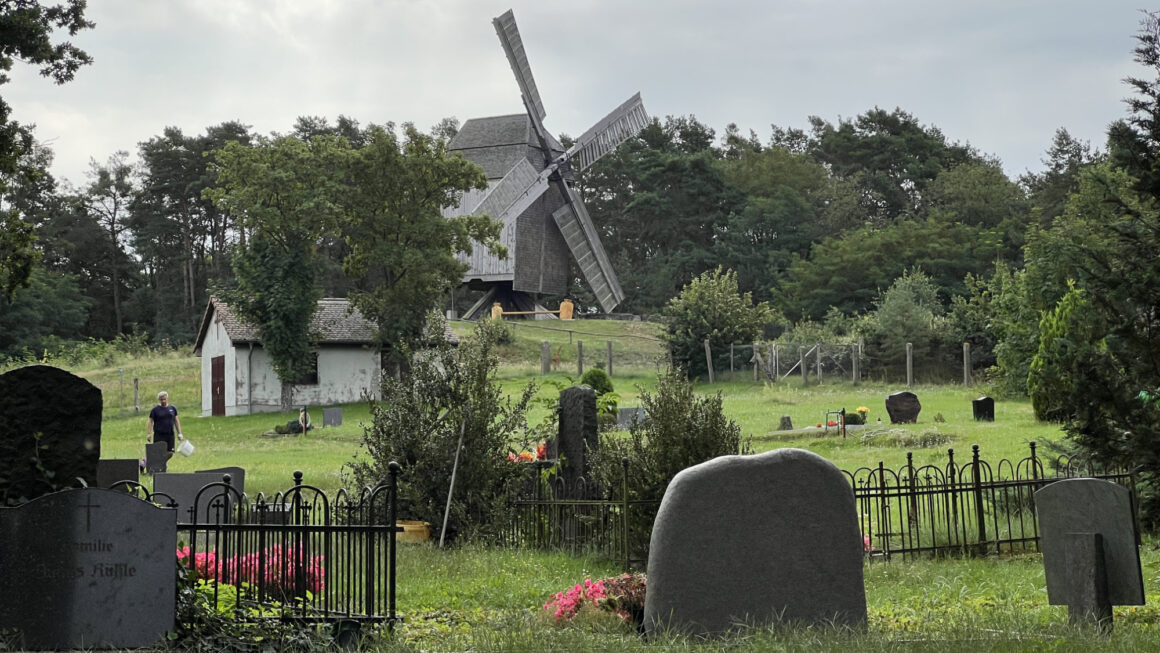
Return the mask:
<svg viewBox="0 0 1160 653">
<path fill-rule="evenodd" d="M 455 322 L 454 328 L 467 335 L 472 326 Z M 603 343 L 612 341 L 612 380 L 621 406 L 638 406 L 640 391 L 653 391 L 657 386 L 658 361 L 662 360 L 664 350 L 657 340 L 660 327 L 655 324 L 551 320 L 517 322 L 509 328 L 514 339 L 512 344 L 500 348 L 498 377 L 510 393 L 535 383 L 541 397 L 552 398 L 559 387 L 577 383 L 575 341 L 581 339 L 589 339 L 583 340 L 586 361 L 589 361 L 589 341 L 601 344 L 593 347 L 594 357 L 596 354 L 604 356 L 607 346 Z M 539 343 L 544 340 L 552 343 L 553 355 L 559 353 L 563 360 L 551 373 L 541 376 Z M 586 363 L 586 369 L 593 364 L 595 360 Z M 201 360 L 188 353 L 115 357 L 96 364 L 61 367 L 87 378 L 103 392 L 103 458 L 136 458 L 144 454 L 145 415 L 153 406 L 157 392 L 166 390 L 181 412 L 186 436 L 196 447 L 196 452 L 188 458 L 175 456 L 169 469 L 182 472 L 238 465 L 246 469 L 246 489 L 249 493 L 285 489 L 292 484 L 295 471 L 304 473 L 305 483 L 324 489 L 342 486 L 342 465 L 358 454 L 363 425 L 370 419 L 365 404 L 348 404 L 343 406 L 343 423 L 340 427 L 316 429 L 304 437 L 267 438 L 260 435 L 275 425 L 296 419 L 297 414 L 200 416 Z M 907 451 L 913 451 L 916 465 L 942 465 L 947 460 L 947 450 L 955 449 L 956 459 L 963 463 L 970 458 L 972 444 L 978 444 L 983 458 L 992 463 L 999 458 L 1017 460 L 1028 455 L 1029 442 L 1037 442 L 1041 456 L 1046 456 L 1050 455 L 1050 443 L 1061 438 L 1057 426 L 1035 420 L 1028 401 L 996 401 L 995 421 L 976 422 L 971 400 L 985 393 L 986 389 L 962 385 L 909 389 L 922 402 L 919 423 L 897 427 L 885 423 L 879 427 L 875 423 L 878 418 L 889 422 L 885 397 L 905 387 L 876 383 L 851 385 L 848 382 L 803 386 L 797 379 L 777 384 L 755 383 L 752 372 L 726 373 L 723 377 L 712 385 L 698 383 L 697 391 L 722 394 L 726 415 L 737 421 L 746 436 L 752 437 L 756 451 L 798 447 L 814 451 L 848 471 L 876 466 L 879 462 L 897 469 L 906 464 Z M 135 409 L 135 379 L 139 411 Z M 846 438 L 835 428 L 815 427 L 825 422 L 828 411 L 846 408 L 853 412 L 858 406 L 870 408 L 871 425 L 861 430 L 850 429 Z M 548 411 L 546 406 L 536 405 L 529 413 L 529 423 L 538 423 Z M 793 431 L 777 430 L 783 415 L 791 419 Z M 320 423 L 320 409 L 316 409 L 312 418 Z M 867 437 L 875 434 L 887 437 Z M 878 444 L 899 440 L 937 444 L 919 448 Z"/>
</svg>

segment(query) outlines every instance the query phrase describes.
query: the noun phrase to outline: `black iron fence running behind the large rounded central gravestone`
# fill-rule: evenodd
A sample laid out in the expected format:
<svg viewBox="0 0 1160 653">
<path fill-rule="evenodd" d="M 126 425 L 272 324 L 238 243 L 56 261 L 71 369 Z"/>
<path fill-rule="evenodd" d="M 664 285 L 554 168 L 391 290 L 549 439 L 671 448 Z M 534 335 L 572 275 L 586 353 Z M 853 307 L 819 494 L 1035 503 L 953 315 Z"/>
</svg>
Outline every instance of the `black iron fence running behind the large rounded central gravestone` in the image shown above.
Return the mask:
<svg viewBox="0 0 1160 653">
<path fill-rule="evenodd" d="M 965 463 L 947 451 L 945 465 L 920 465 L 907 454 L 900 469 L 862 467 L 844 472 L 854 488 L 861 535 L 871 559 L 976 556 L 1038 551 L 1035 491 L 1066 478 L 1089 477 L 1118 483 L 1132 492 L 1128 470 L 1107 470 L 1090 460 L 1041 458 L 1036 443 L 1021 460 L 991 464 L 972 447 Z M 550 463 L 548 463 L 550 465 Z M 529 478 L 512 502 L 513 518 L 501 543 L 570 552 L 595 552 L 621 560 L 625 568 L 647 563 L 647 536 L 658 501 L 631 500 L 630 469 L 619 487 L 588 479 L 544 480 L 543 465 L 529 465 Z M 617 484 L 614 484 L 617 485 Z"/>
</svg>

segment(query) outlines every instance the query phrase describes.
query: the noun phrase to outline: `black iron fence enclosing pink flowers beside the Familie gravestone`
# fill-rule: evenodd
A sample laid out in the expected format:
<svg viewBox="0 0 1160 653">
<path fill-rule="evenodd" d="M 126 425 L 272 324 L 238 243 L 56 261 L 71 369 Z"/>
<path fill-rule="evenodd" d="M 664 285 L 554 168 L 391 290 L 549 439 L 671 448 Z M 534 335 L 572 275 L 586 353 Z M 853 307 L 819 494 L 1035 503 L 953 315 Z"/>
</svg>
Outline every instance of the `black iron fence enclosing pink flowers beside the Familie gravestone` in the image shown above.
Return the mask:
<svg viewBox="0 0 1160 653">
<path fill-rule="evenodd" d="M 215 607 L 239 621 L 375 622 L 396 612 L 398 467 L 389 481 L 333 498 L 303 483 L 249 498 L 229 478 L 176 506 L 138 484 L 119 484 L 177 508 L 179 560 L 205 581 Z"/>
</svg>

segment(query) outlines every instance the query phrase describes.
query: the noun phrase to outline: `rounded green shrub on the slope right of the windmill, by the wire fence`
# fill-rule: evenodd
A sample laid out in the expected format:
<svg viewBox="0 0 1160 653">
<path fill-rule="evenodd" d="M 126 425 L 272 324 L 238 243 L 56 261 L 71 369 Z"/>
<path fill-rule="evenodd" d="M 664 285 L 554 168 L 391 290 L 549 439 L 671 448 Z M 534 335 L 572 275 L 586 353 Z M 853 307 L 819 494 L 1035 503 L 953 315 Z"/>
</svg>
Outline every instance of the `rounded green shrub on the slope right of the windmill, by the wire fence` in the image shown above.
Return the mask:
<svg viewBox="0 0 1160 653">
<path fill-rule="evenodd" d="M 769 304 L 753 303 L 753 295 L 738 290 L 737 273 L 717 268 L 689 282 L 665 306 L 665 341 L 674 365 L 693 376 L 708 372 L 705 340 L 727 360 L 728 346 L 753 342 L 774 320 Z"/>
</svg>

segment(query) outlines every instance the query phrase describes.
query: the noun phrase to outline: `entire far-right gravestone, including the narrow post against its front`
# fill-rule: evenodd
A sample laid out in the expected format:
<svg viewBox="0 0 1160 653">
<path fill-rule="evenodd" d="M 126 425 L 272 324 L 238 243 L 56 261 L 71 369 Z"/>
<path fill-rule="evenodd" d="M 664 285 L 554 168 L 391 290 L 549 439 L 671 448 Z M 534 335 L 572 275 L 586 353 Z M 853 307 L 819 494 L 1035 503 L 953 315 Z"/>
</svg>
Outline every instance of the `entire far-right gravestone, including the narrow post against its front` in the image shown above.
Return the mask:
<svg viewBox="0 0 1160 653">
<path fill-rule="evenodd" d="M 1132 494 L 1111 481 L 1076 478 L 1035 493 L 1047 603 L 1071 621 L 1111 624 L 1112 605 L 1143 605 L 1144 579 Z"/>
</svg>

